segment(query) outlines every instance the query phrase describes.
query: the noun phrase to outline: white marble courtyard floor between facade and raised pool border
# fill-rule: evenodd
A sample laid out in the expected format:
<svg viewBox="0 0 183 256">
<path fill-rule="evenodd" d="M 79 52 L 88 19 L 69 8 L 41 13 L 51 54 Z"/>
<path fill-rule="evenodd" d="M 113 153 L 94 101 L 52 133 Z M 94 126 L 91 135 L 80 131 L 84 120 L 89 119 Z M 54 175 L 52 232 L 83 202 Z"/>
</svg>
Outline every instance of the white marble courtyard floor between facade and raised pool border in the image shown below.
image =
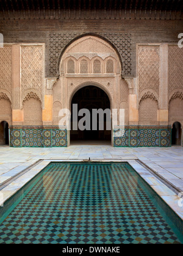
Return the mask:
<svg viewBox="0 0 183 256">
<path fill-rule="evenodd" d="M 115 148 L 71 145 L 67 148 L 0 147 L 0 185 L 39 159 L 139 159 L 183 191 L 183 147 Z"/>
</svg>

